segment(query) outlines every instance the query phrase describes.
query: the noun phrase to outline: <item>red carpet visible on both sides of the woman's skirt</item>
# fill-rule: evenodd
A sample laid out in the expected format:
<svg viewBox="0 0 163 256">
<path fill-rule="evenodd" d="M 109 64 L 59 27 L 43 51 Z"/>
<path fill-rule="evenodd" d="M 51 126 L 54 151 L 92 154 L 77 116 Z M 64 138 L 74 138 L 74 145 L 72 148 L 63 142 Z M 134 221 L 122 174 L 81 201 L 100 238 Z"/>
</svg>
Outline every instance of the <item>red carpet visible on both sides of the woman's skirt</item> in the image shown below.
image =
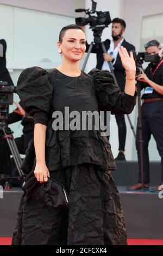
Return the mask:
<svg viewBox="0 0 163 256">
<path fill-rule="evenodd" d="M 11 237 L 0 237 L 0 245 L 11 245 Z M 128 239 L 128 245 L 163 245 L 163 239 Z"/>
</svg>

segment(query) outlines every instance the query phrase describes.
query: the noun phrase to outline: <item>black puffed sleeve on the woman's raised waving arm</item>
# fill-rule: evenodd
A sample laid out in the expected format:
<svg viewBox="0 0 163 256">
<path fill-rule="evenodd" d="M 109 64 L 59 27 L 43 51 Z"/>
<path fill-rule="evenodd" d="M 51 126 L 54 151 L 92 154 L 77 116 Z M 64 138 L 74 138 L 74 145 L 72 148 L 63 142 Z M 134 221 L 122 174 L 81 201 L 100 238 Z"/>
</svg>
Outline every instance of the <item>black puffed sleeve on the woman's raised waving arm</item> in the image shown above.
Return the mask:
<svg viewBox="0 0 163 256">
<path fill-rule="evenodd" d="M 136 96 L 122 93 L 114 83 L 108 70 L 92 69 L 99 111 L 111 111 L 111 114 L 130 114 L 136 104 Z"/>
</svg>

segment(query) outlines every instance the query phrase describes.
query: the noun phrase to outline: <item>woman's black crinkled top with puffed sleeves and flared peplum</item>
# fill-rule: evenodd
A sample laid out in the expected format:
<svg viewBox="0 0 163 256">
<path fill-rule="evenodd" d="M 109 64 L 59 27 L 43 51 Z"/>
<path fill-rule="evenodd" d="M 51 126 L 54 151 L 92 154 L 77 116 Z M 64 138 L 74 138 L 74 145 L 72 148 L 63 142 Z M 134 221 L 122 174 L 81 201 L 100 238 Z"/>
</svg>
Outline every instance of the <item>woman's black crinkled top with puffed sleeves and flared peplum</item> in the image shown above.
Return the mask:
<svg viewBox="0 0 163 256">
<path fill-rule="evenodd" d="M 64 115 L 65 107 L 79 113 L 107 110 L 112 114 L 125 114 L 133 110 L 135 97 L 121 93 L 109 71 L 93 69 L 89 75 L 82 72 L 79 77 L 69 77 L 57 69 L 48 74 L 38 67 L 29 68 L 18 79 L 17 93 L 26 112 L 34 115 L 34 123 L 47 125 L 46 164 L 49 171 L 82 163 L 116 169 L 110 143 L 101 136 L 100 128 L 97 131 L 52 129 L 53 112 L 60 111 Z"/>
</svg>

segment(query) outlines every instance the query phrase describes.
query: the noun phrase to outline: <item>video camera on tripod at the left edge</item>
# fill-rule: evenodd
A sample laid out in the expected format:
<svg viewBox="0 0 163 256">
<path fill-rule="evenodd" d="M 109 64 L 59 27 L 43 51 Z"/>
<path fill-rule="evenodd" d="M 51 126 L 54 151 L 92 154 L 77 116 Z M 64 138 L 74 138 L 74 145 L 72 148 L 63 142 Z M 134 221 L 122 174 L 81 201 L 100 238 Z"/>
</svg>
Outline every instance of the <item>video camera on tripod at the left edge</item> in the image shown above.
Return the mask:
<svg viewBox="0 0 163 256">
<path fill-rule="evenodd" d="M 9 105 L 13 104 L 14 93 L 16 93 L 14 86 L 8 86 L 7 82 L 0 81 L 0 155 L 2 157 L 2 161 L 0 162 L 0 183 L 4 187 L 5 184 L 11 182 L 11 179 L 20 179 L 23 176 L 23 172 L 20 169 L 22 160 L 12 135 L 13 132 L 8 127 Z M 18 174 L 20 175 L 18 177 L 10 176 L 10 155 L 13 156 Z"/>
</svg>

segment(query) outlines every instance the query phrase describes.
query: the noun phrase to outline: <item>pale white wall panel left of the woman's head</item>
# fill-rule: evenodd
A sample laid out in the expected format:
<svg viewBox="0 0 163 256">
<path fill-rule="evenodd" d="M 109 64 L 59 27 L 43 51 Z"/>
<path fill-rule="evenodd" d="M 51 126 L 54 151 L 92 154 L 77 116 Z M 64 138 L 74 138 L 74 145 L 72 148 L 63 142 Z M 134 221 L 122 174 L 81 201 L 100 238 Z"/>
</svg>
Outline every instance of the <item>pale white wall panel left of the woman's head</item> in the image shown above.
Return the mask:
<svg viewBox="0 0 163 256">
<path fill-rule="evenodd" d="M 53 69 L 60 63 L 57 41 L 60 29 L 74 23 L 74 17 L 0 4 L 0 36 L 7 41 L 7 68 L 30 66 Z M 14 25 L 14 26 L 13 26 Z"/>
</svg>

